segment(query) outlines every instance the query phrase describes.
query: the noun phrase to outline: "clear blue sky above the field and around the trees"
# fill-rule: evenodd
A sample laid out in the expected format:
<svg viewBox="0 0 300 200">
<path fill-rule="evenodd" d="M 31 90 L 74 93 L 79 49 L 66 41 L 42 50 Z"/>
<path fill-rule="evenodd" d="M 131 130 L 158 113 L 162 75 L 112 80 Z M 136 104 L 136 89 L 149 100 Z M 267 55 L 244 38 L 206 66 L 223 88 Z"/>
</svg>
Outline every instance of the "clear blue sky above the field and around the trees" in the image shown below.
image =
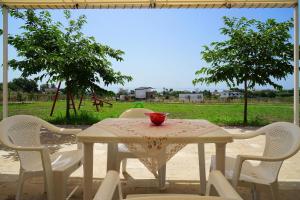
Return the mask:
<svg viewBox="0 0 300 200">
<path fill-rule="evenodd" d="M 51 10 L 55 20 L 63 20 L 62 10 Z M 196 85 L 195 71 L 206 64 L 201 60 L 203 45 L 224 39 L 219 29 L 223 16 L 285 21 L 293 17 L 293 9 L 161 9 L 161 10 L 73 10 L 74 17 L 85 14 L 88 23 L 83 32 L 98 42 L 125 51 L 123 62 L 113 62 L 113 68 L 131 75 L 133 81 L 125 86 L 112 85 L 108 89 L 134 89 L 151 86 L 157 90 L 227 89 L 225 84 Z M 1 15 L 2 18 L 2 15 Z M 20 33 L 20 22 L 9 19 L 9 33 Z M 2 19 L 0 20 L 2 27 Z M 291 30 L 291 35 L 293 34 Z M 0 41 L 2 47 L 2 39 Z M 2 48 L 0 48 L 2 55 Z M 16 57 L 13 48 L 9 57 Z M 2 56 L 0 58 L 2 63 Z M 2 69 L 0 70 L 2 74 Z M 9 80 L 20 72 L 9 71 Z M 0 77 L 2 81 L 2 75 Z M 280 84 L 293 88 L 292 76 Z M 270 88 L 265 86 L 263 88 Z M 262 89 L 262 87 L 257 87 Z"/>
</svg>

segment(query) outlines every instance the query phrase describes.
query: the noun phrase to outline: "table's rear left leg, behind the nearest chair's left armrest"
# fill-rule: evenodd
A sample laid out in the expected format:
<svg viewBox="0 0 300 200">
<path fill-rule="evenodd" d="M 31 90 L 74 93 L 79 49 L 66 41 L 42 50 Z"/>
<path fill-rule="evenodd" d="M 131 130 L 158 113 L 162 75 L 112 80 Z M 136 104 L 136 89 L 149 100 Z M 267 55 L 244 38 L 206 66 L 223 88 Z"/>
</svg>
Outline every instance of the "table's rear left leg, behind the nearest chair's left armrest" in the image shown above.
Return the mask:
<svg viewBox="0 0 300 200">
<path fill-rule="evenodd" d="M 117 163 L 118 154 L 118 144 L 117 143 L 108 143 L 107 144 L 107 167 L 106 170 L 115 170 L 119 171 L 120 164 Z"/>
</svg>

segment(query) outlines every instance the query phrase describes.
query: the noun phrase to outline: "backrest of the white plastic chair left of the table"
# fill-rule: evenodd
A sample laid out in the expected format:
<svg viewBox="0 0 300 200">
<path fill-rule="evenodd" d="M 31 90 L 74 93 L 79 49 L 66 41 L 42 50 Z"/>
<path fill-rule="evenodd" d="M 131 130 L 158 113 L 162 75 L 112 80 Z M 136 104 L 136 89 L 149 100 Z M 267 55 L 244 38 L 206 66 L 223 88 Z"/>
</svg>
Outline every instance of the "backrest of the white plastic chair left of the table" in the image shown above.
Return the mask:
<svg viewBox="0 0 300 200">
<path fill-rule="evenodd" d="M 41 146 L 40 131 L 44 121 L 30 115 L 15 115 L 0 122 L 0 141 L 20 147 Z M 21 168 L 30 170 L 42 167 L 41 154 L 32 151 L 17 151 Z"/>
</svg>

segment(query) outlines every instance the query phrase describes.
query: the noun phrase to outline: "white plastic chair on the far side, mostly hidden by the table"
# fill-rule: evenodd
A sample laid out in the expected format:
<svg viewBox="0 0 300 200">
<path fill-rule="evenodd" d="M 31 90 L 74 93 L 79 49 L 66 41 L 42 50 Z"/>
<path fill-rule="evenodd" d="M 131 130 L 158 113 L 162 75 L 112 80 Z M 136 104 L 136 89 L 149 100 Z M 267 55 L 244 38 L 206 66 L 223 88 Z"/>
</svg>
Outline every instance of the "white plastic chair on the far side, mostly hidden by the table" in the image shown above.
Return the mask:
<svg viewBox="0 0 300 200">
<path fill-rule="evenodd" d="M 119 118 L 148 118 L 144 113 L 153 112 L 152 110 L 145 108 L 132 108 L 124 111 Z M 120 166 L 122 163 L 122 173 L 126 172 L 127 158 L 138 158 L 136 155 L 132 154 L 125 144 L 118 144 L 117 150 L 117 165 Z M 145 155 L 146 156 L 146 155 Z M 164 189 L 166 180 L 166 165 L 163 165 L 155 175 L 159 181 L 160 189 Z"/>
</svg>

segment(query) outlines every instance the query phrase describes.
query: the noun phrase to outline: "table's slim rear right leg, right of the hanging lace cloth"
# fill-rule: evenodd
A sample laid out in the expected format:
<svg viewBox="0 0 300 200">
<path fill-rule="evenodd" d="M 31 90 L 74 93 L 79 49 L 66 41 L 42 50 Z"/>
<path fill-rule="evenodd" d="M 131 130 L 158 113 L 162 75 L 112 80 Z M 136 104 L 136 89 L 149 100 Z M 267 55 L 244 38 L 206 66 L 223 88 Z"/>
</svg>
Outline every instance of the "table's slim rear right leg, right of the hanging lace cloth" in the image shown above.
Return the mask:
<svg viewBox="0 0 300 200">
<path fill-rule="evenodd" d="M 200 194 L 205 195 L 206 190 L 206 172 L 205 172 L 205 151 L 204 144 L 198 144 L 199 176 L 200 176 Z"/>
</svg>

